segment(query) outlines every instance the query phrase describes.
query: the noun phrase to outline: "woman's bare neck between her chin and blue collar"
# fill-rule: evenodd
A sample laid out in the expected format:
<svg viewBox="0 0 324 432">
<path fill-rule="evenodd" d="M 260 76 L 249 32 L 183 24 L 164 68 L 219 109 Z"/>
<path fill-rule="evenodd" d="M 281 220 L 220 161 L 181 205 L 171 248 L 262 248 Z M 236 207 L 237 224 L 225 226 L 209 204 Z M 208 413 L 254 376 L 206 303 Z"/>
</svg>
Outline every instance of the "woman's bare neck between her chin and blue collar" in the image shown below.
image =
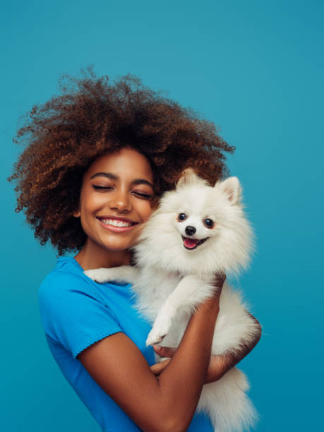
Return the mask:
<svg viewBox="0 0 324 432">
<path fill-rule="evenodd" d="M 129 265 L 131 259 L 130 251 L 107 251 L 101 246 L 87 241 L 81 251 L 74 257 L 83 270 L 92 268 L 119 267 Z"/>
</svg>

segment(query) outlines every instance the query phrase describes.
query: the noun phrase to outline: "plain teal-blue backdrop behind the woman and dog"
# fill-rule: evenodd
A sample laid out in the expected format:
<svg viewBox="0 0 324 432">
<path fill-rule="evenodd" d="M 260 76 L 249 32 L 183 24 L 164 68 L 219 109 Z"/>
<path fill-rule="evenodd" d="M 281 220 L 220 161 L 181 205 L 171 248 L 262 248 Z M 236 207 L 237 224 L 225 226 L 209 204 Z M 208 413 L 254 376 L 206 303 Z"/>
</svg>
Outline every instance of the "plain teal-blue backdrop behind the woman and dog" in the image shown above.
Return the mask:
<svg viewBox="0 0 324 432">
<path fill-rule="evenodd" d="M 18 118 L 93 64 L 193 107 L 236 145 L 258 237 L 240 279 L 263 337 L 241 367 L 258 431 L 323 430 L 323 3 L 17 1 L 1 11 L 1 416 L 3 431 L 99 431 L 61 376 L 37 287 L 56 253 L 16 215 L 6 182 Z M 1 424 L 2 423 L 2 424 Z"/>
</svg>

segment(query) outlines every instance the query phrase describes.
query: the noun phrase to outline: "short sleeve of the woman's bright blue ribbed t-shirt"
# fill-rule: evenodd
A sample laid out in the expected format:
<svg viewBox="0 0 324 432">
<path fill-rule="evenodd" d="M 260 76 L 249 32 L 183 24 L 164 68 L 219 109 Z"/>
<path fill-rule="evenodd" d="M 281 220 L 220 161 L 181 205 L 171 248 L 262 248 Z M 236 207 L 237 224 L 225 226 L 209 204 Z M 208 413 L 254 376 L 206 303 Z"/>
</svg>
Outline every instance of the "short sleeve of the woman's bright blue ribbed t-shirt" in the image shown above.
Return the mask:
<svg viewBox="0 0 324 432">
<path fill-rule="evenodd" d="M 79 275 L 55 272 L 42 282 L 38 299 L 45 334 L 74 358 L 91 344 L 122 331 L 100 294 Z"/>
</svg>

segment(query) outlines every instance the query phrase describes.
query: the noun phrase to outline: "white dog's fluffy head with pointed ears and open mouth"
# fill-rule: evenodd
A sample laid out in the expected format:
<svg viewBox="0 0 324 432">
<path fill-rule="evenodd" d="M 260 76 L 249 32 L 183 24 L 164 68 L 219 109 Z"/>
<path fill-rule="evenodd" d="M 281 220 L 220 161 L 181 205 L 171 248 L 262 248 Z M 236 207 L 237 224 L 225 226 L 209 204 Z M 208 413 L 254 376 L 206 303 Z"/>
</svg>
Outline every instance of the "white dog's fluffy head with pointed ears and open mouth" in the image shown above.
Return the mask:
<svg viewBox="0 0 324 432">
<path fill-rule="evenodd" d="M 143 239 L 164 267 L 238 272 L 252 246 L 239 180 L 230 177 L 212 187 L 186 170 L 176 190 L 164 194 Z"/>
</svg>

